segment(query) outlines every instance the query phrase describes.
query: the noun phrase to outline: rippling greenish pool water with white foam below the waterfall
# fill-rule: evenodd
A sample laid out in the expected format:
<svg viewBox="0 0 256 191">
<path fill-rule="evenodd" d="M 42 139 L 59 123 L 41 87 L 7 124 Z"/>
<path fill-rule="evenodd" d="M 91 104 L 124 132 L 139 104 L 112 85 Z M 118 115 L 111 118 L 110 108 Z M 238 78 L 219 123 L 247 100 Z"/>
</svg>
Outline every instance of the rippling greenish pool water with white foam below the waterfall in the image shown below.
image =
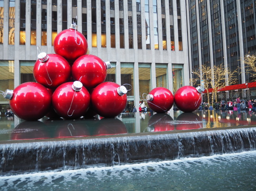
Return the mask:
<svg viewBox="0 0 256 191">
<path fill-rule="evenodd" d="M 1 190 L 256 190 L 256 151 L 0 176 Z"/>
</svg>

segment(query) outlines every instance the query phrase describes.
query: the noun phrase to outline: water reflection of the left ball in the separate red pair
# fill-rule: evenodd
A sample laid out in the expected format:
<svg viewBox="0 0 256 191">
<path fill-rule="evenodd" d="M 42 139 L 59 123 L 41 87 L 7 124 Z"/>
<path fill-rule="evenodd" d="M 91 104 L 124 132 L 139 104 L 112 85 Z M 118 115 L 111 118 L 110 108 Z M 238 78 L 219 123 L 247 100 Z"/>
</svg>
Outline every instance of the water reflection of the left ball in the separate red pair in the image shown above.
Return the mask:
<svg viewBox="0 0 256 191">
<path fill-rule="evenodd" d="M 172 131 L 175 129 L 173 119 L 166 113 L 156 113 L 148 123 L 149 131 Z"/>
</svg>

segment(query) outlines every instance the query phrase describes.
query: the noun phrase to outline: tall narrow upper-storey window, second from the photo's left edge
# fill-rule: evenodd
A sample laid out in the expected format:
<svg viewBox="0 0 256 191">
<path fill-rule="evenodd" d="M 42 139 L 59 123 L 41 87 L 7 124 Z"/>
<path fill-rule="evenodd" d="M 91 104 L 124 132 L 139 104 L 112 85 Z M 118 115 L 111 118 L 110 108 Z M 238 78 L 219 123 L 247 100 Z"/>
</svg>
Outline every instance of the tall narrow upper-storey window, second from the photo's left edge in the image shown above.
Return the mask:
<svg viewBox="0 0 256 191">
<path fill-rule="evenodd" d="M 9 45 L 14 45 L 15 0 L 9 1 Z"/>
</svg>

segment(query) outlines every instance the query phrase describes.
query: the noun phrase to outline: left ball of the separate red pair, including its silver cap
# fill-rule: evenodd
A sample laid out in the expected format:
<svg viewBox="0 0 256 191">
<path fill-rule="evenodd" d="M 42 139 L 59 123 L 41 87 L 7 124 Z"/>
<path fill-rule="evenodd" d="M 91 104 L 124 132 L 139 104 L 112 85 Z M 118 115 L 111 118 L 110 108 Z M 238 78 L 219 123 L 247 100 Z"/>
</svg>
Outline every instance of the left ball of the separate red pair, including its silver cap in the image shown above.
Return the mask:
<svg viewBox="0 0 256 191">
<path fill-rule="evenodd" d="M 172 108 L 174 97 L 166 88 L 154 88 L 147 95 L 147 104 L 150 109 L 157 113 L 164 113 Z"/>
</svg>

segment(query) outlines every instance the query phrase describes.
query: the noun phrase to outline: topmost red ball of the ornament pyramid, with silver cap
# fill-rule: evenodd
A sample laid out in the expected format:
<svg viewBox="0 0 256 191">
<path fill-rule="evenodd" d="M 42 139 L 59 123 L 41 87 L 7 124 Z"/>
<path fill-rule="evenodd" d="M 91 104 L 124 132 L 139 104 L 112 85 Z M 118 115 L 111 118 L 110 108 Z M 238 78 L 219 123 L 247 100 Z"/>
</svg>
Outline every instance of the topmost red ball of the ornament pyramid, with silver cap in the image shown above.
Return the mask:
<svg viewBox="0 0 256 191">
<path fill-rule="evenodd" d="M 54 39 L 53 48 L 56 54 L 63 56 L 69 64 L 87 53 L 88 44 L 84 35 L 77 31 L 77 25 L 61 31 Z"/>
</svg>

